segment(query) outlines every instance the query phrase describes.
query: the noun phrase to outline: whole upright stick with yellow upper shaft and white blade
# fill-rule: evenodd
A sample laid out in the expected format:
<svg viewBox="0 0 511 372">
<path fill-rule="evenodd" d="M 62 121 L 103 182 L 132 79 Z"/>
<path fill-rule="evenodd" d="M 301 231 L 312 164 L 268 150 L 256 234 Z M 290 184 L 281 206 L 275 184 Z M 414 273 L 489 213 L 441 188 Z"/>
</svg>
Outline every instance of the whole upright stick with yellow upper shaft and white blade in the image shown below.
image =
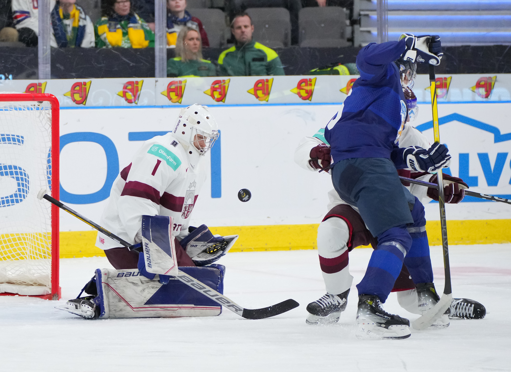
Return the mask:
<svg viewBox="0 0 511 372">
<path fill-rule="evenodd" d="M 429 81 L 431 83 L 431 109 L 433 111 L 433 132 L 435 134 L 435 143 L 440 143 L 440 130 L 438 125 L 438 107 L 436 104 L 436 79 L 435 79 L 435 66 L 429 64 Z M 412 321 L 412 327 L 416 330 L 424 330 L 435 322 L 445 311 L 451 306 L 452 303 L 452 288 L 451 288 L 451 268 L 449 265 L 449 245 L 447 243 L 447 220 L 446 220 L 446 206 L 444 198 L 444 181 L 442 177 L 442 168 L 437 169 L 438 178 L 438 203 L 440 206 L 440 228 L 442 229 L 442 246 L 444 249 L 444 271 L 445 271 L 445 285 L 444 294 L 436 305 L 429 309 L 424 315 Z"/>
</svg>

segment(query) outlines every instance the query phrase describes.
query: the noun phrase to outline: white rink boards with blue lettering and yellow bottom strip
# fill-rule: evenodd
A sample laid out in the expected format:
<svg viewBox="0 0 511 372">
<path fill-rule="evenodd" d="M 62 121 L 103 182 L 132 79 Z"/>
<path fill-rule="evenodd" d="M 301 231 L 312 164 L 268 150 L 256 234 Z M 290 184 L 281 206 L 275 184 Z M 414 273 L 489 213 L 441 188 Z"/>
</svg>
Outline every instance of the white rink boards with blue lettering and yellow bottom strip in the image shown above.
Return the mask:
<svg viewBox="0 0 511 372">
<path fill-rule="evenodd" d="M 459 88 L 459 100 L 453 101 L 455 82 L 463 80 L 458 77 L 449 80 L 448 95 L 438 105 L 440 136 L 452 154 L 449 172 L 467 181 L 473 191 L 511 198 L 509 75 L 499 75 L 496 82 L 492 77 L 486 79 L 486 89 L 490 89 L 486 98 L 480 82 L 478 94 L 470 86 L 466 88 L 469 90 Z M 476 76 L 463 77 L 479 81 Z M 282 78 L 291 81 L 299 77 Z M 334 83 L 350 77 L 327 78 Z M 118 79 L 93 80 L 92 84 L 106 80 Z M 422 80 L 419 83 L 425 85 Z M 415 91 L 425 89 L 417 85 Z M 272 91 L 278 86 L 273 85 Z M 7 90 L 5 84 L 0 88 Z M 427 93 L 422 94 L 423 102 Z M 290 95 L 298 97 L 293 92 Z M 239 234 L 233 251 L 315 248 L 316 228 L 327 212 L 327 192 L 332 184 L 324 173 L 299 168 L 293 153 L 301 137 L 312 136 L 342 110 L 343 99 L 311 104 L 315 97 L 322 97 L 314 95 L 311 101 L 299 99 L 301 102 L 294 103 L 271 103 L 271 96 L 268 102 L 251 102 L 247 95 L 240 104 L 211 106 L 221 130 L 220 142 L 204 159 L 208 180 L 194 208 L 192 225 L 205 223 L 214 234 Z M 199 103 L 213 101 L 203 96 Z M 64 105 L 61 110 L 60 195 L 62 202 L 99 222 L 114 178 L 145 139 L 172 130 L 185 100 L 177 107 L 131 105 L 130 109 L 122 105 L 89 107 L 89 102 Z M 430 107 L 426 102 L 421 104 L 419 119 L 413 124 L 433 142 Z M 246 203 L 237 198 L 242 188 L 252 193 Z M 426 206 L 426 217 L 430 244 L 440 244 L 437 203 Z M 447 218 L 450 244 L 511 241 L 510 205 L 466 198 L 460 204 L 447 205 Z M 96 234 L 87 225 L 64 213 L 60 223 L 62 257 L 101 253 L 94 247 Z"/>
</svg>

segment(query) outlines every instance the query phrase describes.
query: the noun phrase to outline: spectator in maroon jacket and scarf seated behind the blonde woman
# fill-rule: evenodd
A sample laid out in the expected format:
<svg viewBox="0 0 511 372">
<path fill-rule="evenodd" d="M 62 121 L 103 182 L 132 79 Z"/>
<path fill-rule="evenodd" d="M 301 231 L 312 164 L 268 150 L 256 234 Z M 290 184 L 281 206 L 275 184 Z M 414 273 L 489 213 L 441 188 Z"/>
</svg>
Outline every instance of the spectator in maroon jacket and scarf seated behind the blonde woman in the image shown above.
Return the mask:
<svg viewBox="0 0 511 372">
<path fill-rule="evenodd" d="M 190 27 L 200 33 L 203 47 L 209 47 L 206 30 L 197 17 L 186 10 L 187 0 L 167 0 L 167 48 L 175 48 L 177 34 L 183 27 Z"/>
</svg>

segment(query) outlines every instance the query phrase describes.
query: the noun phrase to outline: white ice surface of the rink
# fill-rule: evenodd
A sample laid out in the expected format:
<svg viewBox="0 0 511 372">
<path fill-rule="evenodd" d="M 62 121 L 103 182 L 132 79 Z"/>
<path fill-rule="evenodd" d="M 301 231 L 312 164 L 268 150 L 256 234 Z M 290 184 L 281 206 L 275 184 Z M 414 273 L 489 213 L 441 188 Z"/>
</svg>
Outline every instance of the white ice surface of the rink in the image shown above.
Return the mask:
<svg viewBox="0 0 511 372">
<path fill-rule="evenodd" d="M 0 297 L 0 371 L 508 371 L 511 346 L 511 244 L 451 246 L 453 295 L 480 301 L 482 320 L 411 330 L 405 340 L 354 336 L 357 284 L 371 249 L 350 253 L 355 277 L 348 306 L 331 326 L 305 323 L 307 304 L 324 294 L 317 251 L 229 253 L 225 294 L 246 308 L 293 298 L 300 307 L 274 318 L 85 320 L 55 301 Z M 441 247 L 431 247 L 443 289 Z M 76 297 L 106 258 L 62 259 L 62 300 Z M 385 309 L 413 320 L 391 294 Z"/>
</svg>

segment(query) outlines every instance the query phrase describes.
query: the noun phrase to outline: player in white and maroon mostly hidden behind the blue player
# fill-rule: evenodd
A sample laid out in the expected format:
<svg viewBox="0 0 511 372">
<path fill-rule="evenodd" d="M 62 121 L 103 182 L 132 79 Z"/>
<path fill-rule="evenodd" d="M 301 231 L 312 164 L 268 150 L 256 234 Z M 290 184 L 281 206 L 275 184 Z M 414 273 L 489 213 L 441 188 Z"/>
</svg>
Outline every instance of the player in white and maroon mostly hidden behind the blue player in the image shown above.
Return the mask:
<svg viewBox="0 0 511 372">
<path fill-rule="evenodd" d="M 415 100 L 411 89 L 407 89 L 405 96 Z M 408 95 L 407 95 L 408 93 Z M 410 104 L 410 117 L 414 119 L 417 114 L 416 105 Z M 324 130 L 320 129 L 313 137 L 303 138 L 295 150 L 295 162 L 309 171 L 318 171 L 328 167 L 330 164 L 330 148 L 324 138 Z M 406 124 L 399 141 L 400 147 L 419 146 L 429 148 L 427 138 L 411 125 Z M 327 170 L 328 172 L 328 170 Z M 424 181 L 434 181 L 434 177 L 429 173 L 414 172 L 410 175 L 410 170 L 398 171 L 400 175 L 420 179 Z M 458 203 L 463 199 L 463 189 L 467 185 L 459 178 L 446 175 L 444 180 L 446 185 L 446 202 Z M 433 199 L 438 200 L 438 193 L 435 189 L 429 189 L 423 186 L 407 184 L 409 191 L 416 196 L 423 204 Z M 349 272 L 348 252 L 359 245 L 377 246 L 377 239 L 374 238 L 367 229 L 364 221 L 360 217 L 356 207 L 343 201 L 335 190 L 329 192 L 328 213 L 318 228 L 318 254 L 326 284 L 327 294 L 317 301 L 309 304 L 308 324 L 328 324 L 336 322 L 340 313 L 346 307 L 347 295 L 353 281 L 353 276 Z M 415 288 L 406 266 L 398 276 L 394 284 L 393 292 L 398 292 L 400 305 L 411 313 L 422 314 L 436 303 L 438 297 L 434 292 L 432 284 L 423 286 L 424 288 Z M 457 301 L 457 302 L 456 302 Z M 482 318 L 485 315 L 484 307 L 476 301 L 468 299 L 456 299 L 453 304 L 463 303 L 466 307 L 472 309 L 471 313 L 460 316 L 456 306 L 451 307 L 451 317 L 464 318 Z M 441 318 L 435 325 L 447 327 L 449 320 L 447 316 Z"/>
</svg>

